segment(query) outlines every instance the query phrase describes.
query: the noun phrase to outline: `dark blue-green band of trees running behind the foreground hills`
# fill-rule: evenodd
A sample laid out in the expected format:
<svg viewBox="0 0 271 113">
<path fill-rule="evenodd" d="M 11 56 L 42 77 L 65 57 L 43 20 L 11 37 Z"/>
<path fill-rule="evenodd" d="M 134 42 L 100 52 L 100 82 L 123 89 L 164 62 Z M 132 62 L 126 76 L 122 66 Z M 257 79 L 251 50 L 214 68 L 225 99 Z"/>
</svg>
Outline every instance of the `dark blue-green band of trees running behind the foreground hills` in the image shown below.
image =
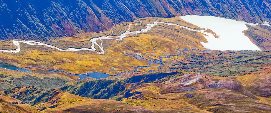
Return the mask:
<svg viewBox="0 0 271 113">
<path fill-rule="evenodd" d="M 135 82 L 164 82 L 175 77 L 184 75 L 182 72 L 155 73 L 133 76 L 125 80 L 126 83 Z M 2 77 L 2 76 L 1 76 Z M 58 89 L 42 89 L 37 86 L 17 86 L 0 92 L 1 95 L 11 96 L 23 102 L 31 102 L 31 105 L 50 101 L 55 95 L 62 91 L 82 97 L 93 99 L 114 99 L 124 98 L 122 95 L 133 94 L 125 88 L 125 82 L 115 79 L 99 79 L 95 81 L 79 81 L 74 85 L 67 85 Z M 39 86 L 39 85 L 38 85 Z"/>
</svg>

